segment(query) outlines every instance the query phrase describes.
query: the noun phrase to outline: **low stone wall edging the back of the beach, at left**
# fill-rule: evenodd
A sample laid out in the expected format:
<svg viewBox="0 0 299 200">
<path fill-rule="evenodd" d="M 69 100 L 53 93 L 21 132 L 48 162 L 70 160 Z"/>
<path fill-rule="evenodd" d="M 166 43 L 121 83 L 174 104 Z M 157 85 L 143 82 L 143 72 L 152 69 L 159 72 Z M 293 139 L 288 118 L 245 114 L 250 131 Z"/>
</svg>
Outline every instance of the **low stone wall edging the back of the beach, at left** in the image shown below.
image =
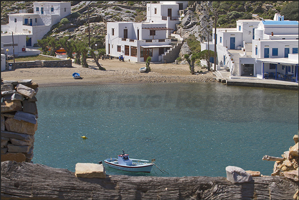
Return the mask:
<svg viewBox="0 0 299 200">
<path fill-rule="evenodd" d="M 29 62 L 15 62 L 15 69 L 27 68 L 27 63 L 35 63 L 35 61 Z M 42 61 L 43 67 L 72 67 L 71 60 L 58 60 L 58 61 Z M 8 62 L 13 67 L 13 62 Z"/>
</svg>

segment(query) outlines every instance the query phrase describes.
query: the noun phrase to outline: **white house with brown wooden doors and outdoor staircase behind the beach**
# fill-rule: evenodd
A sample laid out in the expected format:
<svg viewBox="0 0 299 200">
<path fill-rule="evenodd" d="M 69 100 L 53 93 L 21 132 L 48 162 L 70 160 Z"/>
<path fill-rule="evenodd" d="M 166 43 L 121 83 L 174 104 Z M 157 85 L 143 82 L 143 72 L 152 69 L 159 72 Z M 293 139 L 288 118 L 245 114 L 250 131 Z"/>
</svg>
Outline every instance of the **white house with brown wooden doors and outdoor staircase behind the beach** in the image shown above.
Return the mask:
<svg viewBox="0 0 299 200">
<path fill-rule="evenodd" d="M 179 9 L 187 7 L 187 1 L 160 1 L 147 3 L 145 22 L 107 22 L 106 54 L 124 56 L 125 61 L 174 62 L 179 55 L 182 38 L 174 35 L 179 21 Z M 178 38 L 172 43 L 171 36 Z"/>
</svg>

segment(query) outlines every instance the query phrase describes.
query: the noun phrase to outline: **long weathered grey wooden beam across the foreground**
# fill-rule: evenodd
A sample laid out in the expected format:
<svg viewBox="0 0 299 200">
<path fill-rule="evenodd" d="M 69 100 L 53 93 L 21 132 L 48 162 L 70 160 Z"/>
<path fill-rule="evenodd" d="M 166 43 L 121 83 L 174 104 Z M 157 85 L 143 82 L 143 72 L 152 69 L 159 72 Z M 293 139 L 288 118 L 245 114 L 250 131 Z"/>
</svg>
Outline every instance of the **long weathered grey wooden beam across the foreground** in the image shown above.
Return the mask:
<svg viewBox="0 0 299 200">
<path fill-rule="evenodd" d="M 1 200 L 291 200 L 298 182 L 253 177 L 233 184 L 226 177 L 155 177 L 112 175 L 78 178 L 66 169 L 14 161 L 1 162 Z"/>
</svg>

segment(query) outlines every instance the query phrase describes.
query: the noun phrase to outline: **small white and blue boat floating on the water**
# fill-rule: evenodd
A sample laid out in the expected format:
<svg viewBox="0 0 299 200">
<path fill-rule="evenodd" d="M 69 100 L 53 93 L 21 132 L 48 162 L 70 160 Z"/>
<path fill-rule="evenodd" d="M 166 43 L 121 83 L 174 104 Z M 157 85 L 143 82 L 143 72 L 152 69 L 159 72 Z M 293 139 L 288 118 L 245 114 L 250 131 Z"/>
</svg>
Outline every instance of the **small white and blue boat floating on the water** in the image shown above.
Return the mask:
<svg viewBox="0 0 299 200">
<path fill-rule="evenodd" d="M 109 167 L 129 171 L 129 172 L 147 172 L 150 173 L 154 163 L 149 163 L 148 160 L 140 160 L 129 158 L 128 154 L 124 154 L 122 150 L 122 154 L 117 158 L 107 158 L 104 160 Z"/>
</svg>

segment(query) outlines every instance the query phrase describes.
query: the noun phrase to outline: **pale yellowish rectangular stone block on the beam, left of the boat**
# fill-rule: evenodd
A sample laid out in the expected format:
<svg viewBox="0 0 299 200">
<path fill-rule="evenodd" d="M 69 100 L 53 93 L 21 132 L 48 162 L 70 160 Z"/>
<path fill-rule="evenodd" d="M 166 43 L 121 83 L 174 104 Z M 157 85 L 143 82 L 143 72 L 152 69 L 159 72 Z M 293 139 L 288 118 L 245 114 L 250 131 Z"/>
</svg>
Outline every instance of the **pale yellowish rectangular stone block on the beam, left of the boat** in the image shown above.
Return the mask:
<svg viewBox="0 0 299 200">
<path fill-rule="evenodd" d="M 106 178 L 105 167 L 103 164 L 77 163 L 75 175 L 82 178 Z"/>
</svg>

